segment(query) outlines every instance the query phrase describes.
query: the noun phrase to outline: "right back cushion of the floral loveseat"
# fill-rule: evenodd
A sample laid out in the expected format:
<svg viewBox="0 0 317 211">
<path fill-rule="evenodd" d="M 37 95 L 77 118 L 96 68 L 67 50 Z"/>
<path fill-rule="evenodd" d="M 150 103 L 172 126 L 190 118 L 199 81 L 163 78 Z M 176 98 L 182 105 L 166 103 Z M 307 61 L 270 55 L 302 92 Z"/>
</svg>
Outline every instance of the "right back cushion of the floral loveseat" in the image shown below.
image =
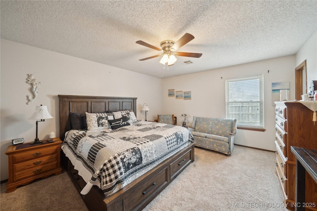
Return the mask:
<svg viewBox="0 0 317 211">
<path fill-rule="evenodd" d="M 212 126 L 210 134 L 229 137 L 229 133 L 232 132 L 231 119 L 212 119 Z M 195 129 L 196 130 L 196 129 Z"/>
</svg>

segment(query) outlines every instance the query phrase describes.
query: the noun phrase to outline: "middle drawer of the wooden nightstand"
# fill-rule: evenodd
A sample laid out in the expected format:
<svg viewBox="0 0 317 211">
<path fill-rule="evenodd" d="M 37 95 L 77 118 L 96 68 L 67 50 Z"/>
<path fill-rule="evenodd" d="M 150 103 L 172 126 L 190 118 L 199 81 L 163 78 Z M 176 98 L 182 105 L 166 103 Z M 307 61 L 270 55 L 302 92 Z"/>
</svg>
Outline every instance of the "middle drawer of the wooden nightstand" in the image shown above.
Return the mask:
<svg viewBox="0 0 317 211">
<path fill-rule="evenodd" d="M 38 167 L 38 166 L 42 166 L 42 165 L 45 165 L 48 163 L 52 163 L 54 161 L 57 161 L 57 154 L 48 155 L 45 157 L 40 157 L 40 158 L 32 159 L 29 161 L 14 164 L 13 170 L 16 172 L 16 171 L 20 171 L 20 170 L 30 169 L 33 167 Z"/>
</svg>

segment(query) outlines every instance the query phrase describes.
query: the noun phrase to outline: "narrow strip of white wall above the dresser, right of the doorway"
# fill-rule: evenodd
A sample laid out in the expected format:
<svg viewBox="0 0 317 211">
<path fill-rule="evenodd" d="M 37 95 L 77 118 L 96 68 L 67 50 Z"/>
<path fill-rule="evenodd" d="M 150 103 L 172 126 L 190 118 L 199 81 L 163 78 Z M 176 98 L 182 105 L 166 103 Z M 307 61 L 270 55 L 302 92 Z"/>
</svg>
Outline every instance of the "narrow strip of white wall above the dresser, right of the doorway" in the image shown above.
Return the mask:
<svg viewBox="0 0 317 211">
<path fill-rule="evenodd" d="M 296 53 L 296 66 L 306 60 L 307 65 L 307 89 L 317 80 L 317 31 Z"/>
</svg>

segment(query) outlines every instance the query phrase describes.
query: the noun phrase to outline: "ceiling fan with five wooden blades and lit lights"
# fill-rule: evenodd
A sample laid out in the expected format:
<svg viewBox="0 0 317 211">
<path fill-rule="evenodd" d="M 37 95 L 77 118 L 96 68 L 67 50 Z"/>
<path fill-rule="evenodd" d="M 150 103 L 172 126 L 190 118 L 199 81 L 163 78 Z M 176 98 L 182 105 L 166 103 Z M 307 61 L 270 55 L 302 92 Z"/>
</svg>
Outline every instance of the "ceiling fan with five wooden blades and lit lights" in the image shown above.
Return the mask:
<svg viewBox="0 0 317 211">
<path fill-rule="evenodd" d="M 177 42 L 171 41 L 171 40 L 166 40 L 162 41 L 160 43 L 160 47 L 153 46 L 149 43 L 143 42 L 143 41 L 137 41 L 136 43 L 144 45 L 146 47 L 150 47 L 155 50 L 160 50 L 162 53 L 155 55 L 155 56 L 150 56 L 144 59 L 140 59 L 140 61 L 156 58 L 159 56 L 162 56 L 160 59 L 159 63 L 165 65 L 167 63 L 168 66 L 173 65 L 176 62 L 176 57 L 175 56 L 186 56 L 186 57 L 194 57 L 194 58 L 199 58 L 203 54 L 202 53 L 188 53 L 188 52 L 175 52 L 178 48 L 181 46 L 185 45 L 186 43 L 190 42 L 193 40 L 195 37 L 192 36 L 189 33 L 185 33 L 183 37 L 181 37 Z"/>
</svg>

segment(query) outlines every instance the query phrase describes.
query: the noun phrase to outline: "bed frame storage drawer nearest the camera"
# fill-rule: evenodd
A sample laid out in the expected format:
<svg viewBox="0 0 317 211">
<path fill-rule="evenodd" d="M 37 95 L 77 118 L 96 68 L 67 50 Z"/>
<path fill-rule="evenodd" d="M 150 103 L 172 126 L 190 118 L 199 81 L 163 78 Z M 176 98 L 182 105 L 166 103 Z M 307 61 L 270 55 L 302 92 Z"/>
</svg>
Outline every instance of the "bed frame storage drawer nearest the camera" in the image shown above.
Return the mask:
<svg viewBox="0 0 317 211">
<path fill-rule="evenodd" d="M 162 169 L 155 176 L 143 183 L 137 188 L 131 196 L 124 199 L 125 211 L 130 210 L 135 205 L 139 205 L 142 201 L 146 201 L 158 189 L 162 188 L 168 182 L 168 168 Z"/>
</svg>

